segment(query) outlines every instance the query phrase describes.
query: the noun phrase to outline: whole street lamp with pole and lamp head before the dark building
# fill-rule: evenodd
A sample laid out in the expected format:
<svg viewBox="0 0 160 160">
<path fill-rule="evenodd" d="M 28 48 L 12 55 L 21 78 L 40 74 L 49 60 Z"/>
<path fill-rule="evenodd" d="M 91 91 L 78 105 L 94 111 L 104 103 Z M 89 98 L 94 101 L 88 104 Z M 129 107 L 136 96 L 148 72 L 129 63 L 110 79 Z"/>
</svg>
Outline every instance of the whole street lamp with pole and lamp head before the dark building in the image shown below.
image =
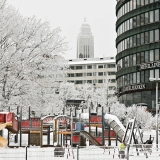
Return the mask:
<svg viewBox="0 0 160 160">
<path fill-rule="evenodd" d="M 158 82 L 160 81 L 160 78 L 149 78 L 150 81 L 156 82 L 156 145 L 158 147 L 158 112 L 159 112 L 159 106 L 158 106 Z"/>
</svg>

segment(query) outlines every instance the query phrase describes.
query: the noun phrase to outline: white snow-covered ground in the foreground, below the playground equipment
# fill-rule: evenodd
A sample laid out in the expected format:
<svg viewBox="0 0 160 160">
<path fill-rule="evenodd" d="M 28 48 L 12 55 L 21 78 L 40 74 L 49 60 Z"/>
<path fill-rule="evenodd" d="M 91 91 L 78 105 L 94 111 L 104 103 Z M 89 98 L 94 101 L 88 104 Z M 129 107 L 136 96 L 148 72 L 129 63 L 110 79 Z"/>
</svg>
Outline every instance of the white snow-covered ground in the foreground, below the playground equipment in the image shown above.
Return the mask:
<svg viewBox="0 0 160 160">
<path fill-rule="evenodd" d="M 96 146 L 88 146 L 83 148 L 65 148 L 64 157 L 54 156 L 54 147 L 40 148 L 2 148 L 0 149 L 0 160 L 113 160 L 121 159 L 119 155 L 118 147 L 111 147 L 110 149 L 100 148 Z M 27 152 L 26 152 L 27 151 Z M 150 151 L 136 151 L 136 147 L 130 148 L 129 160 L 159 160 L 160 148 L 157 151 L 156 148 L 152 148 Z M 27 154 L 26 154 L 27 153 Z M 126 156 L 126 151 L 125 151 Z M 126 158 L 125 158 L 126 159 Z"/>
</svg>

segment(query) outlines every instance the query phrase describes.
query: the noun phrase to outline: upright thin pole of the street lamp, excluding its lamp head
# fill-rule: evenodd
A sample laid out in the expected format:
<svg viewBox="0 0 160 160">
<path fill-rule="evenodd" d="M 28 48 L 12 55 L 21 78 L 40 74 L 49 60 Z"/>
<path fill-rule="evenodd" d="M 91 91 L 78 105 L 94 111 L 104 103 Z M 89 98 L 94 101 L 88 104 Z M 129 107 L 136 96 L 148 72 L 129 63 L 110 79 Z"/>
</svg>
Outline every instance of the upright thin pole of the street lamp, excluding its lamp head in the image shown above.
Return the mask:
<svg viewBox="0 0 160 160">
<path fill-rule="evenodd" d="M 158 81 L 156 81 L 156 146 L 158 148 Z"/>
</svg>

